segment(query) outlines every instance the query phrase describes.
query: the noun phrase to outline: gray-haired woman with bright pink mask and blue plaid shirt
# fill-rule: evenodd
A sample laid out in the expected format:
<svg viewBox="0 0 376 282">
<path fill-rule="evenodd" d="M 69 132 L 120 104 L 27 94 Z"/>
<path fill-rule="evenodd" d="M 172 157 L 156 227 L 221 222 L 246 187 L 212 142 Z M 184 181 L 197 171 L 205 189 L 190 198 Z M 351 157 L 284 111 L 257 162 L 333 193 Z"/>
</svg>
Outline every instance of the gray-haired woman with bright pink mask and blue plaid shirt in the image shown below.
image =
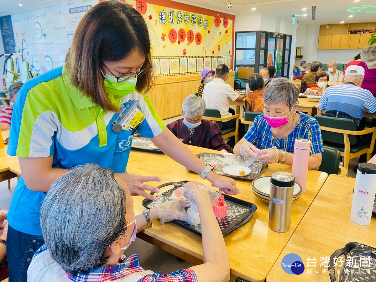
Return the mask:
<svg viewBox="0 0 376 282">
<path fill-rule="evenodd" d="M 264 114 L 255 117 L 246 135 L 234 147 L 244 158 L 258 158 L 268 164 L 293 165 L 295 139 L 311 140 L 308 168 L 321 164 L 323 140 L 317 120 L 297 111 L 299 88 L 285 78 L 272 80 L 264 91 Z"/>
</svg>

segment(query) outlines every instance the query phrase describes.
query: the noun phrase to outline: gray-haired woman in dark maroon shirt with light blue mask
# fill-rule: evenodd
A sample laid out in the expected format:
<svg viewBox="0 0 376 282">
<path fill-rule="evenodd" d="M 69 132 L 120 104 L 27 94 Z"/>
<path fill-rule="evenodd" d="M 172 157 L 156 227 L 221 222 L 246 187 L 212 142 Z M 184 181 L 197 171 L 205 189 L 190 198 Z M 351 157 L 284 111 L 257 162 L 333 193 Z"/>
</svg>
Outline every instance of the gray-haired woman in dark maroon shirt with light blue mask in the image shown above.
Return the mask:
<svg viewBox="0 0 376 282">
<path fill-rule="evenodd" d="M 218 124 L 202 119 L 206 109 L 204 99 L 191 94 L 183 101 L 182 108 L 183 118 L 167 124 L 177 138 L 187 145 L 230 152 Z"/>
</svg>

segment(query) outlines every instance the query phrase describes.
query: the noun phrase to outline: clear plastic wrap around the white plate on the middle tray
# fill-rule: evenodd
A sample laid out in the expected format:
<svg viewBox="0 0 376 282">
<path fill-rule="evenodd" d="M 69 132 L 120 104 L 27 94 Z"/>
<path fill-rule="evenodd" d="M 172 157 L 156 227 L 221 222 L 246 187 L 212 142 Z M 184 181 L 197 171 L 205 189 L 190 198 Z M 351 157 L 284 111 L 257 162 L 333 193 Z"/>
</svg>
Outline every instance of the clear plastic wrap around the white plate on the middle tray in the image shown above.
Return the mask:
<svg viewBox="0 0 376 282">
<path fill-rule="evenodd" d="M 262 162 L 254 161 L 253 159 L 245 159 L 240 156 L 218 156 L 215 154 L 210 153 L 202 153 L 200 155 L 200 160 L 204 164 L 216 164 L 217 168 L 215 169 L 215 173 L 227 175 L 223 172 L 223 168 L 227 167 L 227 165 L 244 165 L 249 167 L 251 173 L 246 176 L 241 176 L 242 178 L 249 178 L 255 179 L 258 177 L 258 174 L 262 168 Z"/>
</svg>

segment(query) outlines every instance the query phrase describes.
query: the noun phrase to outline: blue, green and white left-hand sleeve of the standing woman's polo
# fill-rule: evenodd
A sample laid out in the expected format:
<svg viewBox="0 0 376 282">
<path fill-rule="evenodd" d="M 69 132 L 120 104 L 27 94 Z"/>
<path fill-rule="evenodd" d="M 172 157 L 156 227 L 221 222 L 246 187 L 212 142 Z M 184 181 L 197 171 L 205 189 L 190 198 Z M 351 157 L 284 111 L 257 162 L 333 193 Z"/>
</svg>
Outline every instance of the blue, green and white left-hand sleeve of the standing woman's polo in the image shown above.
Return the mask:
<svg viewBox="0 0 376 282">
<path fill-rule="evenodd" d="M 53 136 L 58 130 L 57 115 L 51 111 L 49 103 L 37 99 L 38 93 L 29 91 L 25 85 L 18 91 L 13 107 L 7 153 L 29 158 L 51 156 L 54 153 Z"/>
</svg>

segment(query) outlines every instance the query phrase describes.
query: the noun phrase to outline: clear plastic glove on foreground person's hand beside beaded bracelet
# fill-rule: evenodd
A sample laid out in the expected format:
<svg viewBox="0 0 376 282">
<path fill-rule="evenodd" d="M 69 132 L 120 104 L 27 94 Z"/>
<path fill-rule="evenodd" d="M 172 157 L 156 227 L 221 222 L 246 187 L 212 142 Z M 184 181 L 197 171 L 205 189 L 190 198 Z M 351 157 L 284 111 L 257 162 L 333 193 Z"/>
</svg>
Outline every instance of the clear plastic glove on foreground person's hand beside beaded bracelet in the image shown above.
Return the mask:
<svg viewBox="0 0 376 282">
<path fill-rule="evenodd" d="M 193 218 L 188 215 L 183 209 L 185 207 L 190 207 L 191 204 L 185 199 L 173 199 L 172 201 L 164 202 L 164 203 L 156 203 L 154 205 L 155 208 L 158 209 L 159 219 L 161 223 L 165 223 L 167 221 L 171 221 L 174 219 L 179 219 L 186 221 L 188 223 L 193 223 Z"/>
</svg>

